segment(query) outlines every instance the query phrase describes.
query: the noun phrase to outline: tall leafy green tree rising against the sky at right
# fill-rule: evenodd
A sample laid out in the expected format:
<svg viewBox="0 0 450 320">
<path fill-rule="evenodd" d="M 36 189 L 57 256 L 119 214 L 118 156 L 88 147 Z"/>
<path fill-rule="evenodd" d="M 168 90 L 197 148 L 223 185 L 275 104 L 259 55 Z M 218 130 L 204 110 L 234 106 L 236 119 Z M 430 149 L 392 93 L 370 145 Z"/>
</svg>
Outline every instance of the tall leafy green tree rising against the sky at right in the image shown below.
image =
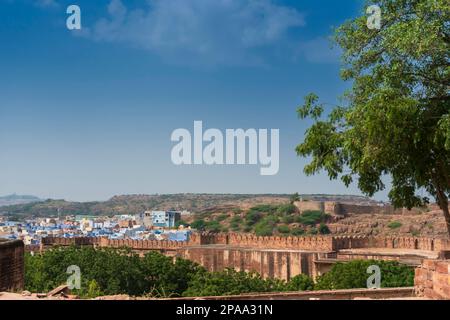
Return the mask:
<svg viewBox="0 0 450 320">
<path fill-rule="evenodd" d="M 297 110 L 315 123 L 296 148 L 311 156 L 311 175 L 325 170 L 366 195 L 383 190 L 396 207 L 429 202 L 442 209 L 450 234 L 450 6 L 448 0 L 368 0 L 382 9 L 379 30 L 362 15 L 341 25 L 341 77 L 351 81 L 327 117 L 310 94 Z"/>
</svg>

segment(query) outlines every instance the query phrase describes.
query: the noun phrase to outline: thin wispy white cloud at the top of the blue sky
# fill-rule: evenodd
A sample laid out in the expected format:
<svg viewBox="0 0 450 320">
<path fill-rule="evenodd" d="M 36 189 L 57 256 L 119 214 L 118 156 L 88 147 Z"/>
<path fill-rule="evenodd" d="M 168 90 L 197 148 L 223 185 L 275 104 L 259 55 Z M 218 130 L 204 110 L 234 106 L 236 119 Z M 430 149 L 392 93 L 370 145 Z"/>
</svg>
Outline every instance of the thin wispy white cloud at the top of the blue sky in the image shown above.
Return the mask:
<svg viewBox="0 0 450 320">
<path fill-rule="evenodd" d="M 290 29 L 305 24 L 303 14 L 272 0 L 150 0 L 138 9 L 112 0 L 108 15 L 89 37 L 128 43 L 181 64 L 261 63 L 260 49 L 293 42 Z"/>
</svg>

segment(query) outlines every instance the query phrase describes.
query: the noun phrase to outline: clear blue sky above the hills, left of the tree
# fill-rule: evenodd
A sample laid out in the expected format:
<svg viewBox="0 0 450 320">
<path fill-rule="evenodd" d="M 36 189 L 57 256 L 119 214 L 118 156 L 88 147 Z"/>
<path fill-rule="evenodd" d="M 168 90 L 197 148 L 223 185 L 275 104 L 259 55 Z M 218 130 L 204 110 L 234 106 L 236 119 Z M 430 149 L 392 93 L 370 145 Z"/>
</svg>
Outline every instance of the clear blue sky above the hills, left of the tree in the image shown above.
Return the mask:
<svg viewBox="0 0 450 320">
<path fill-rule="evenodd" d="M 66 28 L 81 8 L 82 30 Z M 307 93 L 334 103 L 333 26 L 362 1 L 0 0 L 0 194 L 353 193 L 306 177 Z M 279 128 L 280 170 L 175 166 L 176 128 Z M 385 194 L 377 195 L 384 199 Z"/>
</svg>

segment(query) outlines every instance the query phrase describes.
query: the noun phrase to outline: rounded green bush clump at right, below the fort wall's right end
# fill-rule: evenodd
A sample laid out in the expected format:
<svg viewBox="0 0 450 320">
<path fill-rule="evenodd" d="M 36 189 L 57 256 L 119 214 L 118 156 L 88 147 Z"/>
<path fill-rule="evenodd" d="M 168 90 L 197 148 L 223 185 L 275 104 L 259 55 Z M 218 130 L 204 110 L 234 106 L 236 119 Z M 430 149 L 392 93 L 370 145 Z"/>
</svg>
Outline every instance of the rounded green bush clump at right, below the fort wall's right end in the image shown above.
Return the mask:
<svg viewBox="0 0 450 320">
<path fill-rule="evenodd" d="M 378 265 L 381 270 L 381 287 L 409 287 L 414 285 L 414 268 L 397 261 L 352 260 L 338 262 L 331 270 L 317 278 L 315 290 L 340 290 L 367 288 L 367 268 Z"/>
</svg>

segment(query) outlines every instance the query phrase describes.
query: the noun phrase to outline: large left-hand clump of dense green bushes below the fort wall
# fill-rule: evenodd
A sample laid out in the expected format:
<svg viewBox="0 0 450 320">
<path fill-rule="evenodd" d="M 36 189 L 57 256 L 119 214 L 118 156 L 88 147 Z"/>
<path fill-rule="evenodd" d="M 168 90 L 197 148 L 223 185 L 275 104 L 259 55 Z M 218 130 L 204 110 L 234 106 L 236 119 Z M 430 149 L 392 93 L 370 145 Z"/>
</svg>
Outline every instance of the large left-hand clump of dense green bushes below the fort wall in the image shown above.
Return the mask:
<svg viewBox="0 0 450 320">
<path fill-rule="evenodd" d="M 71 265 L 80 268 L 81 288 L 74 293 L 83 298 L 98 294 L 180 296 L 193 274 L 203 270 L 184 259 L 173 263 L 158 252 L 140 258 L 130 249 L 54 248 L 42 254 L 25 255 L 25 289 L 48 292 L 66 283 L 67 267 Z"/>
</svg>

